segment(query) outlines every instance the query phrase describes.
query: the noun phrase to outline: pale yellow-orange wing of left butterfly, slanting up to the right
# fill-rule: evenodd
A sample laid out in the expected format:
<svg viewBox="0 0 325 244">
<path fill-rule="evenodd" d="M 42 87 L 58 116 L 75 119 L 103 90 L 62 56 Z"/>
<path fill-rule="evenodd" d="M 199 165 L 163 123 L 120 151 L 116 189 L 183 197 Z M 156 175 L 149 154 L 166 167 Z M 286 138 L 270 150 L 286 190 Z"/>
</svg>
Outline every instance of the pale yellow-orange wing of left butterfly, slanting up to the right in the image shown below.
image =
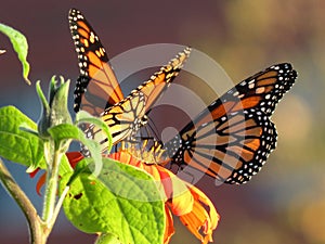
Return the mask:
<svg viewBox="0 0 325 244">
<path fill-rule="evenodd" d="M 177 77 L 183 63 L 190 55 L 190 48 L 180 52 L 159 72 L 155 73 L 150 80 L 143 82 L 136 89 L 131 91 L 130 95 L 118 104 L 106 108 L 102 114 L 102 119 L 109 127 L 113 137 L 113 144 L 130 139 L 136 141 L 134 136 L 147 123 L 147 113 L 152 105 L 160 97 L 169 84 Z M 105 143 L 107 139 L 102 130 L 91 126 L 86 134 L 102 143 L 102 152 L 106 152 Z"/>
</svg>

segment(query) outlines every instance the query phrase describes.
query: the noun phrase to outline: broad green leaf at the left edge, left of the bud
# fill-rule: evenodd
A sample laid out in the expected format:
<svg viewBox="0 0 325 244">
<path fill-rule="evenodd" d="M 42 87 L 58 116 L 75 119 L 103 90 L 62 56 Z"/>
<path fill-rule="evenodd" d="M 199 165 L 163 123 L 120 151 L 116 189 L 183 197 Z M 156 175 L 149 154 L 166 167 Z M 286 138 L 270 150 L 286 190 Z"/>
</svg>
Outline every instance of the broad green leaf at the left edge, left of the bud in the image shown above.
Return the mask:
<svg viewBox="0 0 325 244">
<path fill-rule="evenodd" d="M 36 124 L 14 106 L 0 108 L 0 156 L 31 167 L 46 167 L 43 143 L 20 127 L 37 130 Z"/>
</svg>

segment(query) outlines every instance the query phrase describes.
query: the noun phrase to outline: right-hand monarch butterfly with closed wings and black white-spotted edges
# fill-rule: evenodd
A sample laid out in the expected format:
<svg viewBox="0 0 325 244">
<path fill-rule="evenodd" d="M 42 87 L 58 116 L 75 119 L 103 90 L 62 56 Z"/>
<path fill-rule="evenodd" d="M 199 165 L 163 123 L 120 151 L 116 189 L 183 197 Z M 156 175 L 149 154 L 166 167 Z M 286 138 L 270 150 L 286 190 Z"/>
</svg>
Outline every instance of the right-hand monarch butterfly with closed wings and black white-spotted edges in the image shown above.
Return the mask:
<svg viewBox="0 0 325 244">
<path fill-rule="evenodd" d="M 248 181 L 276 146 L 270 116 L 296 77 L 291 65 L 284 63 L 236 85 L 164 144 L 171 165 L 221 182 Z"/>
</svg>

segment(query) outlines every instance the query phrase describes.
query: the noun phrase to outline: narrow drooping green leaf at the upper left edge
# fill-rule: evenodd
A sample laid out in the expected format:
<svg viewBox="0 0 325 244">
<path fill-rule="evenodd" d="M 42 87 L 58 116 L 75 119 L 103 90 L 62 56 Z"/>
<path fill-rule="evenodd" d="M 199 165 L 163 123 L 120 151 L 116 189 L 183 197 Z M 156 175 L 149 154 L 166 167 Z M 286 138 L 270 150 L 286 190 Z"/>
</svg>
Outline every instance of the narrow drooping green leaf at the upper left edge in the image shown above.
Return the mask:
<svg viewBox="0 0 325 244">
<path fill-rule="evenodd" d="M 28 53 L 28 43 L 26 37 L 15 30 L 14 28 L 1 24 L 0 23 L 0 31 L 9 37 L 15 52 L 18 54 L 18 59 L 23 65 L 23 76 L 28 85 L 30 85 L 30 80 L 28 79 L 29 74 L 29 63 L 27 62 L 27 53 Z"/>
</svg>

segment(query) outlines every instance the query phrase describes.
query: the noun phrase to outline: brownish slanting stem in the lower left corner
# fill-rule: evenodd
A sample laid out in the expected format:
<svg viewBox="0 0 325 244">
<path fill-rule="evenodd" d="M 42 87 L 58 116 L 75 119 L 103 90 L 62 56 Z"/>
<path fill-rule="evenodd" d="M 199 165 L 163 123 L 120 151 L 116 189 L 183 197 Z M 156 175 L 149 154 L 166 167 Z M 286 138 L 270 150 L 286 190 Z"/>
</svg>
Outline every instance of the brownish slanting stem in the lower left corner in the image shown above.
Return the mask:
<svg viewBox="0 0 325 244">
<path fill-rule="evenodd" d="M 12 175 L 5 167 L 4 163 L 0 159 L 0 180 L 3 187 L 6 189 L 9 194 L 15 200 L 15 202 L 21 207 L 22 211 L 26 216 L 29 234 L 30 234 L 30 243 L 32 244 L 44 244 L 46 240 L 43 240 L 42 233 L 42 221 L 37 215 L 37 211 L 31 204 L 30 200 L 23 192 L 20 185 L 15 182 Z"/>
</svg>

